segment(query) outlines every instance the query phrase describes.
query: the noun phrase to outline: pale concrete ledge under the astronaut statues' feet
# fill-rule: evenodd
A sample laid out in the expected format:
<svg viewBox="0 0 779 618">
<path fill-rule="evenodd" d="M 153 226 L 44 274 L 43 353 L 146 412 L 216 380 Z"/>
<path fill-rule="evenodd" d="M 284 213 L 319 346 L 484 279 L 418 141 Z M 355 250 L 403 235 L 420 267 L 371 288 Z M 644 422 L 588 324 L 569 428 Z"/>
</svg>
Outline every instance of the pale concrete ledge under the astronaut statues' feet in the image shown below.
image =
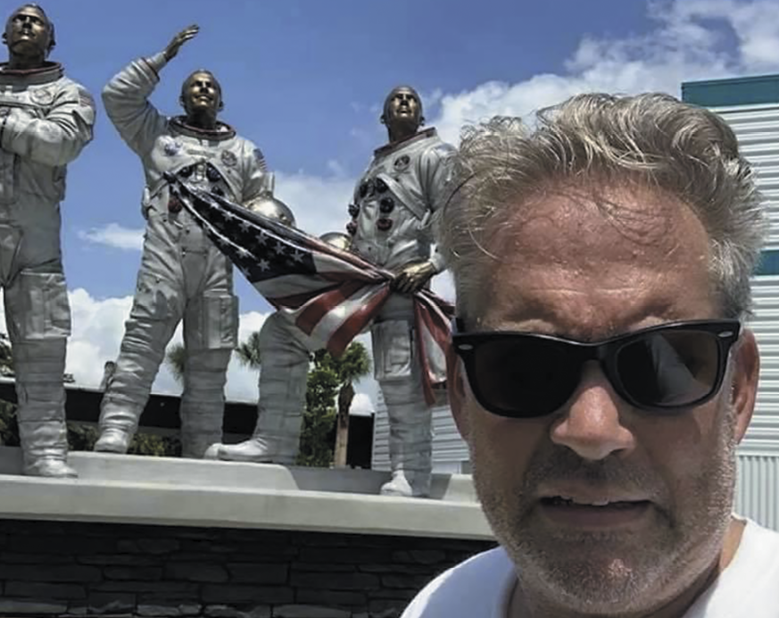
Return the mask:
<svg viewBox="0 0 779 618">
<path fill-rule="evenodd" d="M 385 472 L 71 453 L 79 479 L 21 472 L 0 447 L 0 518 L 492 539 L 470 477 L 435 475 L 433 498 L 377 496 Z"/>
</svg>

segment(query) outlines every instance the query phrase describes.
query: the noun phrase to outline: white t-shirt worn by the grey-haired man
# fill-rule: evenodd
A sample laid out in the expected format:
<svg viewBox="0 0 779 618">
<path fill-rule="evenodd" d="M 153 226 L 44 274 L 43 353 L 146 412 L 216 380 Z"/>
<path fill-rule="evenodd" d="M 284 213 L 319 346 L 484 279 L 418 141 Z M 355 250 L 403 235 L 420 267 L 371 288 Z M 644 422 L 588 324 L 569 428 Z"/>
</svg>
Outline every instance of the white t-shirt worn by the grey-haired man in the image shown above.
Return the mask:
<svg viewBox="0 0 779 618">
<path fill-rule="evenodd" d="M 443 572 L 401 618 L 507 618 L 515 581 L 497 547 Z M 747 521 L 733 560 L 684 618 L 779 618 L 779 533 Z"/>
</svg>

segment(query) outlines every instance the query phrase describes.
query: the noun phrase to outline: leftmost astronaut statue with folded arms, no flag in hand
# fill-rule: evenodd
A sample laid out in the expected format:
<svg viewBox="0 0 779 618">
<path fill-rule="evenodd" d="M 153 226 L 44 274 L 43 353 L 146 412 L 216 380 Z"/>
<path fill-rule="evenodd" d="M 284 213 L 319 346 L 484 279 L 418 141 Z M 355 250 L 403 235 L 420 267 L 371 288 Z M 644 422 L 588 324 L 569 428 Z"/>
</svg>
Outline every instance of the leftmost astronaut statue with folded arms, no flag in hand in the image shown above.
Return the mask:
<svg viewBox="0 0 779 618">
<path fill-rule="evenodd" d="M 65 173 L 92 140 L 95 103 L 46 58 L 54 23 L 23 4 L 5 23 L 0 64 L 0 285 L 19 401 L 25 474 L 75 477 L 67 464 L 65 352 L 70 335 L 62 271 Z"/>
</svg>

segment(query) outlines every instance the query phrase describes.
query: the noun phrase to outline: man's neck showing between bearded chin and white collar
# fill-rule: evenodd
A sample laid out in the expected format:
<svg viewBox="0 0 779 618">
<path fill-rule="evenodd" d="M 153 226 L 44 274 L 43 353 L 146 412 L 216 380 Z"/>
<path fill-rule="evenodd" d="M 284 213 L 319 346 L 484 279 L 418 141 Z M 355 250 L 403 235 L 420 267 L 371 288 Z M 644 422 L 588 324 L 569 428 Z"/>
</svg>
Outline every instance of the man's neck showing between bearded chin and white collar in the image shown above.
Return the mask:
<svg viewBox="0 0 779 618">
<path fill-rule="evenodd" d="M 692 584 L 680 594 L 668 600 L 665 605 L 650 612 L 626 612 L 615 614 L 619 618 L 684 618 L 692 604 L 717 580 L 719 574 L 733 561 L 741 543 L 745 523 L 733 519 L 725 533 L 722 551 L 715 561 L 705 569 Z M 551 599 L 542 595 L 535 596 L 526 591 L 517 582 L 511 592 L 506 618 L 594 618 L 596 614 L 586 614 L 560 608 Z"/>
</svg>

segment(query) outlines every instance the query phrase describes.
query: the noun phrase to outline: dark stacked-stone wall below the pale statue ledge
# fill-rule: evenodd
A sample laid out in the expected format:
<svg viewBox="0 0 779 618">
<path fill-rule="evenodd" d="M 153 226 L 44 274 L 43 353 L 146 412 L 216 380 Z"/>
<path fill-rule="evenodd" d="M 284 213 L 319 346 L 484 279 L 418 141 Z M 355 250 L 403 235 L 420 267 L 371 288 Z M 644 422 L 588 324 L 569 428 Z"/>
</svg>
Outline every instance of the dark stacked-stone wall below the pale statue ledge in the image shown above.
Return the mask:
<svg viewBox="0 0 779 618">
<path fill-rule="evenodd" d="M 390 618 L 476 540 L 0 521 L 2 616 Z"/>
</svg>

